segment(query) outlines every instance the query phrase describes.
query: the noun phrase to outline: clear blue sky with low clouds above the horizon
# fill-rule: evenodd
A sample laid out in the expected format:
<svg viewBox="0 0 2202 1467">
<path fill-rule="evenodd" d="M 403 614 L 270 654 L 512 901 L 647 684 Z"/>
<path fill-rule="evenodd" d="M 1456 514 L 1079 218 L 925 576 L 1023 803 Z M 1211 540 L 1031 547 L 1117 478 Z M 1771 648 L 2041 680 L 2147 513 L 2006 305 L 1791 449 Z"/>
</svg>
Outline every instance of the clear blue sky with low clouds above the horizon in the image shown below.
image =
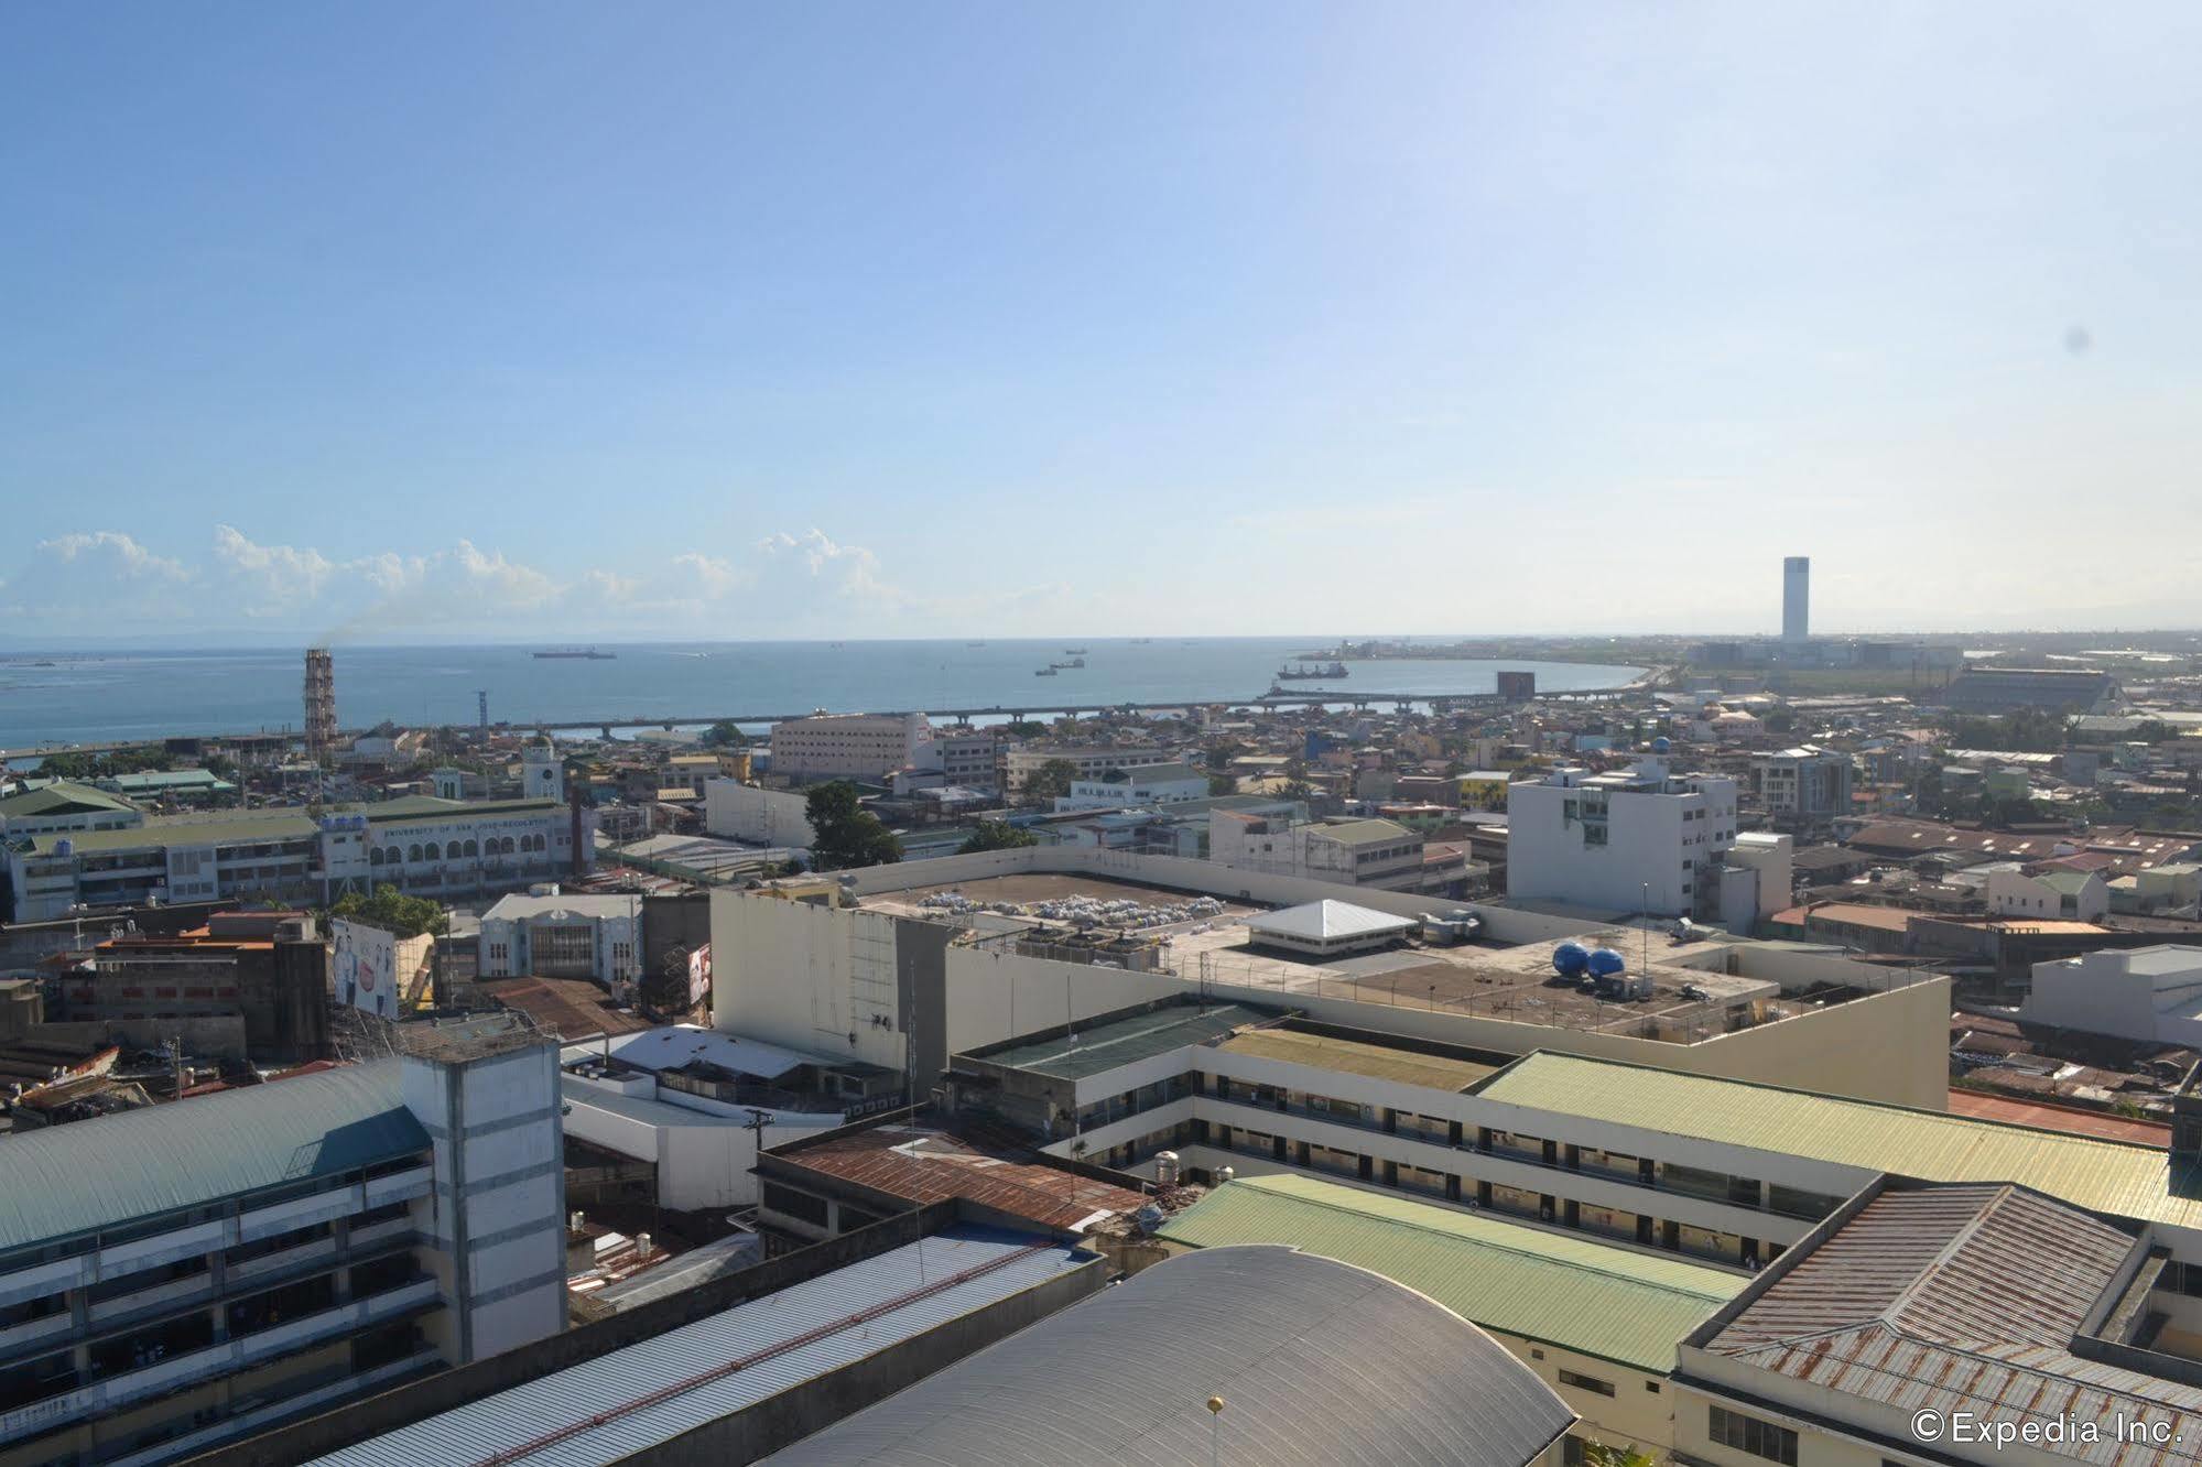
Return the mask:
<svg viewBox="0 0 2202 1467">
<path fill-rule="evenodd" d="M 0 641 L 2198 626 L 2198 53 L 9 7 Z"/>
</svg>

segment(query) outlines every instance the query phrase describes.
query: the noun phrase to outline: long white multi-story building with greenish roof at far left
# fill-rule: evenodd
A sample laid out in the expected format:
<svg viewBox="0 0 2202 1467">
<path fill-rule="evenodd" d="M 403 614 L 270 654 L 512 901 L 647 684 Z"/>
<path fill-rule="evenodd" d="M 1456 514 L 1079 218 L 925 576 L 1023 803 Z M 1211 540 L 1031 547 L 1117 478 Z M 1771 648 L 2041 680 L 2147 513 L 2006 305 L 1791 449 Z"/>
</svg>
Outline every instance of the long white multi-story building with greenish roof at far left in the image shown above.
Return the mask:
<svg viewBox="0 0 2202 1467">
<path fill-rule="evenodd" d="M 121 830 L 7 839 L 15 921 L 75 905 L 319 901 L 390 883 L 412 896 L 478 896 L 592 863 L 588 813 L 559 800 L 412 795 L 313 817 L 304 806 L 174 815 Z"/>
</svg>

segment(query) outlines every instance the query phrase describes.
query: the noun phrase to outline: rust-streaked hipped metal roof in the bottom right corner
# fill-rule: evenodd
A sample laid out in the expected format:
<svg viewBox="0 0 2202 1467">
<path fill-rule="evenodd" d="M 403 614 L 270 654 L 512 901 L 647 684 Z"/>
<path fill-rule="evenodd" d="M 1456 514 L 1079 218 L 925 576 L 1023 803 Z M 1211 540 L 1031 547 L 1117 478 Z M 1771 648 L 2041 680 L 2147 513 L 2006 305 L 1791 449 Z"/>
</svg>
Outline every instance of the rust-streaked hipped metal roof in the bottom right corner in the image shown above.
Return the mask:
<svg viewBox="0 0 2202 1467">
<path fill-rule="evenodd" d="M 2165 1423 L 2169 1443 L 2105 1430 L 2054 1452 L 2191 1463 L 2202 1390 L 2072 1350 L 2143 1247 L 2024 1187 L 1889 1189 L 1753 1282 L 1691 1346 L 1903 1414 Z"/>
</svg>

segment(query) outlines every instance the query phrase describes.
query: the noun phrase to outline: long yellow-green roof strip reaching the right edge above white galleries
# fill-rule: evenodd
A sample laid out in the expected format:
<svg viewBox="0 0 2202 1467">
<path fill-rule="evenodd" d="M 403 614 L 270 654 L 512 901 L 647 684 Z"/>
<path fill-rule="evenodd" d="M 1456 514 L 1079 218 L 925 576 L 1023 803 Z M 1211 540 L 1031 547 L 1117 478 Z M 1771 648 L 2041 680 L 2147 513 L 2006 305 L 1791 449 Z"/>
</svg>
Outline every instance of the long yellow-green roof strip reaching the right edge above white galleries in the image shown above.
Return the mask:
<svg viewBox="0 0 2202 1467">
<path fill-rule="evenodd" d="M 1484 1099 L 1920 1181 L 2010 1181 L 2092 1211 L 2202 1227 L 2202 1165 L 2160 1145 L 1539 1051 Z"/>
</svg>

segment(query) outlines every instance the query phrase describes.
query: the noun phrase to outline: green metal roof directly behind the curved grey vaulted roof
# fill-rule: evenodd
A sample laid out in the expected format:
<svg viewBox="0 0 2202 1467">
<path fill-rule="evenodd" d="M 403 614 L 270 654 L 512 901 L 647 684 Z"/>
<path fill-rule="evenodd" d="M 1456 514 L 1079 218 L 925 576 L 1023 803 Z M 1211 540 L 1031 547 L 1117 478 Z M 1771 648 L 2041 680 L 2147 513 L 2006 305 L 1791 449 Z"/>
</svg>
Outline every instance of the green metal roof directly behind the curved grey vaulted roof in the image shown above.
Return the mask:
<svg viewBox="0 0 2202 1467">
<path fill-rule="evenodd" d="M 1638 1253 L 1312 1176 L 1229 1181 L 1163 1222 L 1193 1247 L 1284 1242 L 1381 1273 L 1519 1339 L 1636 1370 L 1742 1293 L 1742 1273 Z"/>
</svg>

